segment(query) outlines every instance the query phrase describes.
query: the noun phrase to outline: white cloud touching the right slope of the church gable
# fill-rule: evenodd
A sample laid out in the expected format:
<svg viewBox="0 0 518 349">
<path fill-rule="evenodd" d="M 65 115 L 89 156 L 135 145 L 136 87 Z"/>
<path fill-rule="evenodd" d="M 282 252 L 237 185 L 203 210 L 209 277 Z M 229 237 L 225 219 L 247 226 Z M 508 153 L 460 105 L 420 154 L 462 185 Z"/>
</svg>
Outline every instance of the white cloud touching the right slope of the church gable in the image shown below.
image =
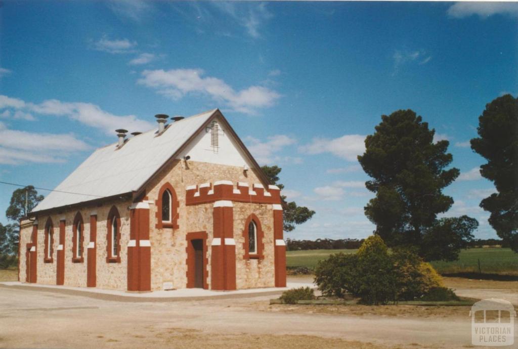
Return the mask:
<svg viewBox="0 0 518 349">
<path fill-rule="evenodd" d="M 272 164 L 280 162 L 294 162 L 300 163 L 300 159 L 290 156 L 277 156 L 275 153 L 279 152 L 286 146 L 291 146 L 296 143 L 296 139 L 286 135 L 275 135 L 268 137 L 266 142 L 261 142 L 257 138 L 247 137 L 245 141 L 249 144 L 248 150 L 256 161 L 260 164 Z"/>
</svg>

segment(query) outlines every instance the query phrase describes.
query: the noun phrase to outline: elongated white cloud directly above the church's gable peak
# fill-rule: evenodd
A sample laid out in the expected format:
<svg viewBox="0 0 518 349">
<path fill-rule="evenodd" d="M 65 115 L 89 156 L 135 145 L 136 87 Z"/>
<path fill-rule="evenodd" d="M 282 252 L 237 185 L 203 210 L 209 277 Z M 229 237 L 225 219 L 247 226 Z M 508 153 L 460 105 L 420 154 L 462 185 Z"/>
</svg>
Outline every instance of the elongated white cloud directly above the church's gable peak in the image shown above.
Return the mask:
<svg viewBox="0 0 518 349">
<path fill-rule="evenodd" d="M 202 69 L 144 70 L 142 78 L 137 82 L 175 100 L 186 94 L 206 94 L 213 100 L 244 113 L 253 113 L 257 108 L 270 107 L 281 97 L 277 92 L 263 86 L 250 86 L 235 91 L 223 80 L 203 75 Z"/>
</svg>

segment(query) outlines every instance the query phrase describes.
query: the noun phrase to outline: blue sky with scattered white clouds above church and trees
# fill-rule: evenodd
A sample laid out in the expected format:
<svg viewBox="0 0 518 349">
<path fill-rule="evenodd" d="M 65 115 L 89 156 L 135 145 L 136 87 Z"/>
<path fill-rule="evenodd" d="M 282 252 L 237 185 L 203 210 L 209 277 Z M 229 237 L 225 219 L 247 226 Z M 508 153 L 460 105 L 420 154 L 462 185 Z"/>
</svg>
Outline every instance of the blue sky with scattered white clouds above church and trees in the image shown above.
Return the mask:
<svg viewBox="0 0 518 349">
<path fill-rule="evenodd" d="M 462 172 L 446 215 L 493 238 L 478 207 L 493 185 L 468 141 L 486 103 L 518 94 L 517 19 L 516 3 L 7 1 L 0 180 L 53 188 L 116 128 L 217 107 L 317 212 L 287 237 L 363 238 L 356 156 L 382 114 L 413 109 Z M 14 189 L 0 185 L 0 211 Z"/>
</svg>

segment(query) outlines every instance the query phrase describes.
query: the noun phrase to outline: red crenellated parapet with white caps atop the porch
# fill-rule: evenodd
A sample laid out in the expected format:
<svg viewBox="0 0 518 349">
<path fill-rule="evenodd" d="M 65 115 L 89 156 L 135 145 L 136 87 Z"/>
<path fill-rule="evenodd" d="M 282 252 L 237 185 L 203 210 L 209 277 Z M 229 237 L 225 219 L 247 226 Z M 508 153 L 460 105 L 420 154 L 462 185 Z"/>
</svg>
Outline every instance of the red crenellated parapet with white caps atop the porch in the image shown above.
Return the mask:
<svg viewBox="0 0 518 349">
<path fill-rule="evenodd" d="M 246 182 L 217 181 L 190 185 L 185 188 L 185 205 L 199 205 L 218 200 L 229 200 L 250 203 L 280 204 L 281 194 L 277 185 L 268 185 L 268 189 L 261 183 L 249 184 Z"/>
</svg>

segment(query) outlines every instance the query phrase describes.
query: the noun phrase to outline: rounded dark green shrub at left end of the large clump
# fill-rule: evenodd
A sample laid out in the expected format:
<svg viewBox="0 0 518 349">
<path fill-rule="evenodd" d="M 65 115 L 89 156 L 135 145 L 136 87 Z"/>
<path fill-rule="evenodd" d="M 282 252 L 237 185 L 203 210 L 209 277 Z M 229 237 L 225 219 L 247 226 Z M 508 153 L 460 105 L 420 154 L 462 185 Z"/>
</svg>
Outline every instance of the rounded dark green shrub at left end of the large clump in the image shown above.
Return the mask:
<svg viewBox="0 0 518 349">
<path fill-rule="evenodd" d="M 343 298 L 348 292 L 359 292 L 358 256 L 356 254 L 332 254 L 319 261 L 315 269 L 315 283 L 322 295 Z"/>
</svg>

